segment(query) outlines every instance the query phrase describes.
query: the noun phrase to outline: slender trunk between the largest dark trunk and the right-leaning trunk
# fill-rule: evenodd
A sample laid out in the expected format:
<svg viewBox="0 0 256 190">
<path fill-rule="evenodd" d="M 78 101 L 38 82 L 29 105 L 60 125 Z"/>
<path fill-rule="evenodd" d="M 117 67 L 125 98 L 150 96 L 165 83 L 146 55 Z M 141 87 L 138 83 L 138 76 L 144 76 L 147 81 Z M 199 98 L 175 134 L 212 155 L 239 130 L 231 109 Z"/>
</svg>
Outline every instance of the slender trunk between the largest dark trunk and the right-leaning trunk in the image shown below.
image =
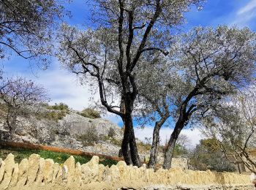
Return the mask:
<svg viewBox="0 0 256 190">
<path fill-rule="evenodd" d="M 157 156 L 158 156 L 158 149 L 159 149 L 159 143 L 160 143 L 160 137 L 159 132 L 162 127 L 162 125 L 167 120 L 168 116 L 163 117 L 160 121 L 157 121 L 154 126 L 154 132 L 153 132 L 153 140 L 151 145 L 151 151 L 150 151 L 150 157 L 148 161 L 148 167 L 154 168 L 157 164 Z"/>
</svg>

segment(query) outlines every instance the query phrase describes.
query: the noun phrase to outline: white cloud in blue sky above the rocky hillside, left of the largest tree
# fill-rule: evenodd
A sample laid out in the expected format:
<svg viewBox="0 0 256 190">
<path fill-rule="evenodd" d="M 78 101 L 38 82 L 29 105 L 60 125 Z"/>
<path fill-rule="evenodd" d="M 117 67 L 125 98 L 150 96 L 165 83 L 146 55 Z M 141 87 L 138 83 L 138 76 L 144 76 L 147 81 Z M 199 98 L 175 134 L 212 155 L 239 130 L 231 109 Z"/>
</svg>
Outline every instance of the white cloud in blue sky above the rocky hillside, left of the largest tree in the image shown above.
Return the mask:
<svg viewBox="0 0 256 190">
<path fill-rule="evenodd" d="M 47 70 L 36 70 L 37 68 L 29 68 L 26 64 L 17 67 L 9 64 L 4 69 L 7 76 L 26 77 L 44 86 L 48 91 L 50 104 L 64 102 L 74 110 L 83 110 L 93 103 L 91 97 L 99 99 L 98 94 L 91 94 L 89 86 L 80 85 L 75 74 L 61 69 L 58 61 L 53 62 Z"/>
</svg>

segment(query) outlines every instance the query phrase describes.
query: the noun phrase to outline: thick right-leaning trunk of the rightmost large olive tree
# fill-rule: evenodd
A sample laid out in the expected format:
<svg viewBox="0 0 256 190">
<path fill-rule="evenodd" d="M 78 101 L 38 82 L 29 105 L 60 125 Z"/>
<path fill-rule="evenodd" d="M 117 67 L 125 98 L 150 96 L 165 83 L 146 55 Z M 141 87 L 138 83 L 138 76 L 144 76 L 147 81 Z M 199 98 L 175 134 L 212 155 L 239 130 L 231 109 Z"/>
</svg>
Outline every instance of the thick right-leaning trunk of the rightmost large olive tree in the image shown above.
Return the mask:
<svg viewBox="0 0 256 190">
<path fill-rule="evenodd" d="M 168 142 L 167 145 L 167 150 L 165 152 L 165 160 L 164 160 L 164 164 L 162 164 L 162 167 L 164 169 L 170 169 L 171 166 L 171 161 L 173 159 L 173 151 L 176 145 L 176 141 L 178 139 L 178 135 L 181 132 L 181 129 L 183 129 L 184 127 L 184 121 L 182 120 L 178 120 L 176 123 L 176 126 L 173 130 L 173 133 L 170 135 L 170 140 Z"/>
</svg>

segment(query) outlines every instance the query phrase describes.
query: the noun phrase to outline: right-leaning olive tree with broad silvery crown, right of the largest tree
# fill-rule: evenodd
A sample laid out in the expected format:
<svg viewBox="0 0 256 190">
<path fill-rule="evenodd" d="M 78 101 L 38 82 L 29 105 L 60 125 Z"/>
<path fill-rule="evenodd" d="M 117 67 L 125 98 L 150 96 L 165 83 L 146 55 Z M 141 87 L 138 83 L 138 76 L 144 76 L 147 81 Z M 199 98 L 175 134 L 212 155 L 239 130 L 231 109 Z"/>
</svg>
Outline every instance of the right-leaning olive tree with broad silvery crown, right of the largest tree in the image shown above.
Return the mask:
<svg viewBox="0 0 256 190">
<path fill-rule="evenodd" d="M 170 168 L 178 135 L 193 117 L 205 115 L 223 96 L 252 82 L 255 42 L 255 33 L 249 28 L 227 26 L 197 27 L 177 40 L 170 66 L 176 67 L 182 85 L 177 89 L 176 124 L 163 168 Z"/>
</svg>

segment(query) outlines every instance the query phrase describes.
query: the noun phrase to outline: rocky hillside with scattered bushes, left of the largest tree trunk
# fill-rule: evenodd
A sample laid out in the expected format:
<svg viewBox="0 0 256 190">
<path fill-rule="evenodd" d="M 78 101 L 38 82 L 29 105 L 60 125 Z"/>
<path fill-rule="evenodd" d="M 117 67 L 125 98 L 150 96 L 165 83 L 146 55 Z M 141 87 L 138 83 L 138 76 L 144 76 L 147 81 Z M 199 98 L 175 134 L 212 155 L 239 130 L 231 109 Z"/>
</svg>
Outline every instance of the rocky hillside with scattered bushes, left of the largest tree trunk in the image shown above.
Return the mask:
<svg viewBox="0 0 256 190">
<path fill-rule="evenodd" d="M 33 109 L 33 108 L 29 108 Z M 3 104 L 1 114 L 4 115 Z M 117 156 L 122 130 L 104 118 L 86 118 L 75 110 L 55 110 L 42 106 L 36 115 L 18 118 L 15 142 L 79 149 Z M 8 128 L 0 118 L 1 139 L 7 139 Z"/>
</svg>

